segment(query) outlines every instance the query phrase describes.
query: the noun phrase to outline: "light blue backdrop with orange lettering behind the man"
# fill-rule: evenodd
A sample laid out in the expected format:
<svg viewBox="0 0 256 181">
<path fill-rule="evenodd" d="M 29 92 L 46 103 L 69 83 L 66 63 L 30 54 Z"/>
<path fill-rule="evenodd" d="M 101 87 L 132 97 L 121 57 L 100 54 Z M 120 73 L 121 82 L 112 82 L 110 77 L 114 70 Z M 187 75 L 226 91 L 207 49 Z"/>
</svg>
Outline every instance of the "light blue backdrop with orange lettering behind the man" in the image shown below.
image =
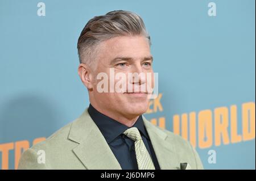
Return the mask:
<svg viewBox="0 0 256 181">
<path fill-rule="evenodd" d="M 39 2 L 45 5 L 45 16 L 40 16 Z M 216 5 L 215 16 L 210 2 Z M 31 146 L 35 138 L 50 136 L 88 106 L 87 90 L 77 74 L 77 39 L 90 18 L 120 9 L 141 15 L 152 40 L 162 97 L 155 110 L 152 103 L 147 119 L 173 131 L 175 115 L 183 127 L 182 115 L 195 112 L 195 146 L 205 169 L 255 169 L 253 0 L 0 0 L 0 169 L 15 168 L 20 141 Z M 246 103 L 251 110 L 243 120 Z M 232 105 L 237 108 L 233 114 Z M 222 123 L 228 123 L 229 140 L 222 135 L 225 138 L 216 145 L 214 110 L 219 107 L 228 110 Z M 203 110 L 213 116 L 206 120 L 213 135 L 208 146 L 199 146 L 204 125 L 198 114 Z M 237 128 L 230 127 L 232 115 L 237 115 Z M 250 136 L 244 135 L 246 121 Z M 232 129 L 241 136 L 237 142 L 231 141 Z"/>
</svg>

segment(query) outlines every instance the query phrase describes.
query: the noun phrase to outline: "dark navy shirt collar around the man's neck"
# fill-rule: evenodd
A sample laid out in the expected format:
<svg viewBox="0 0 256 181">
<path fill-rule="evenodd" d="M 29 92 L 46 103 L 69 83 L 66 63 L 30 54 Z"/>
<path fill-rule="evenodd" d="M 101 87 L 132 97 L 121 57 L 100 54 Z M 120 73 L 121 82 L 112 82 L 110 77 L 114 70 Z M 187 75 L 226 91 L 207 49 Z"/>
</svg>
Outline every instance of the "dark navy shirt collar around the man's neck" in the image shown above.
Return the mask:
<svg viewBox="0 0 256 181">
<path fill-rule="evenodd" d="M 101 133 L 105 137 L 108 144 L 112 142 L 115 138 L 117 138 L 120 134 L 126 131 L 126 129 L 129 129 L 130 127 L 127 127 L 126 125 L 119 123 L 118 121 L 102 114 L 101 112 L 98 112 L 92 104 L 89 105 L 88 112 L 90 117 L 92 117 L 92 120 L 97 125 L 97 127 L 100 129 Z M 142 115 L 138 117 L 137 121 L 133 125 L 133 127 L 136 127 L 139 129 L 139 132 L 143 134 L 144 137 L 149 139 L 148 134 L 146 132 L 146 129 L 144 127 Z"/>
</svg>

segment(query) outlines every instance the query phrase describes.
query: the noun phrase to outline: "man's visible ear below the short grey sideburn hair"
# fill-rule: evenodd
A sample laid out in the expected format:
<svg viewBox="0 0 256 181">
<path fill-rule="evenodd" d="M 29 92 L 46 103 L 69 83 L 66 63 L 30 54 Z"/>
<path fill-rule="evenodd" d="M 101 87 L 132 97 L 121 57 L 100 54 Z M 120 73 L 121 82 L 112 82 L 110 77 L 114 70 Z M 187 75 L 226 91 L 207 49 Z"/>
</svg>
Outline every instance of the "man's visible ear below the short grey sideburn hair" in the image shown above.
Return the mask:
<svg viewBox="0 0 256 181">
<path fill-rule="evenodd" d="M 78 73 L 82 83 L 84 83 L 87 89 L 92 90 L 93 80 L 92 80 L 92 73 L 90 71 L 90 68 L 85 64 L 80 64 L 78 68 Z"/>
</svg>

